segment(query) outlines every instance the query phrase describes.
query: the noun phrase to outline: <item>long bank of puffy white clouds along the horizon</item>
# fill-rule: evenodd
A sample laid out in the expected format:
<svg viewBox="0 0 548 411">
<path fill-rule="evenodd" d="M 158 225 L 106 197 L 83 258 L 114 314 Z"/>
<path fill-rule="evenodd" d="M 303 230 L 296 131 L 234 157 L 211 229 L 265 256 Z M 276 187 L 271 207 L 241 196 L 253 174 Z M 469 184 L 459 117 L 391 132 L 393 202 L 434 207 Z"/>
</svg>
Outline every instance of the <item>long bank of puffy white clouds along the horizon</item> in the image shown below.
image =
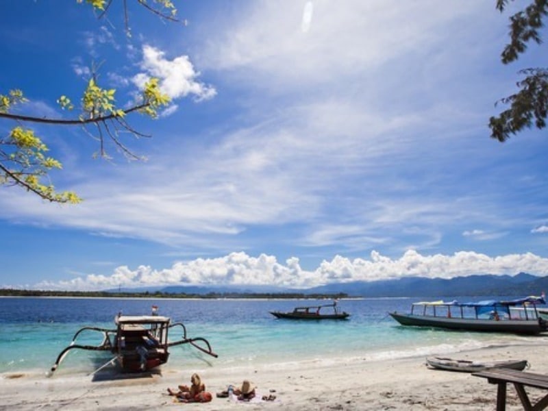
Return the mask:
<svg viewBox="0 0 548 411">
<path fill-rule="evenodd" d="M 392 259 L 377 251 L 366 258 L 350 260 L 336 256 L 323 261 L 313 271 L 301 268 L 299 259 L 288 258 L 283 264 L 274 256 L 247 253 L 229 253 L 219 258 L 198 258 L 188 262 L 176 262 L 169 269 L 153 269 L 138 266 L 129 269 L 119 266 L 110 275 L 90 274 L 62 282 L 41 282 L 39 289 L 104 290 L 127 287 L 173 285 L 271 285 L 308 288 L 321 284 L 398 279 L 416 276 L 451 278 L 473 274 L 514 275 L 527 272 L 548 275 L 548 258 L 532 253 L 489 257 L 473 251 L 460 251 L 451 256 L 436 254 L 423 256 L 408 250 L 401 258 Z"/>
</svg>

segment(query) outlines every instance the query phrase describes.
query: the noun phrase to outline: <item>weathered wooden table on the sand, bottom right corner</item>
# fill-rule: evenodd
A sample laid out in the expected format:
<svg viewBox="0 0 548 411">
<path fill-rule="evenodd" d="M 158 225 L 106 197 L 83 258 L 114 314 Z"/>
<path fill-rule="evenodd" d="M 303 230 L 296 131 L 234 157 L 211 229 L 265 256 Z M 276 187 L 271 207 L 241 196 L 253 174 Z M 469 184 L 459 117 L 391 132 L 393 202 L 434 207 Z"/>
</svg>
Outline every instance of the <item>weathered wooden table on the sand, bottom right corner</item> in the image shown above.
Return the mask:
<svg viewBox="0 0 548 411">
<path fill-rule="evenodd" d="M 548 407 L 548 394 L 536 404 L 531 405 L 529 396 L 525 392 L 525 386 L 544 388 L 548 390 L 548 375 L 528 373 L 511 369 L 487 369 L 479 373 L 473 373 L 476 377 L 486 378 L 490 384 L 497 384 L 497 411 L 506 410 L 506 384 L 514 384 L 519 399 L 526 411 L 544 410 Z"/>
</svg>

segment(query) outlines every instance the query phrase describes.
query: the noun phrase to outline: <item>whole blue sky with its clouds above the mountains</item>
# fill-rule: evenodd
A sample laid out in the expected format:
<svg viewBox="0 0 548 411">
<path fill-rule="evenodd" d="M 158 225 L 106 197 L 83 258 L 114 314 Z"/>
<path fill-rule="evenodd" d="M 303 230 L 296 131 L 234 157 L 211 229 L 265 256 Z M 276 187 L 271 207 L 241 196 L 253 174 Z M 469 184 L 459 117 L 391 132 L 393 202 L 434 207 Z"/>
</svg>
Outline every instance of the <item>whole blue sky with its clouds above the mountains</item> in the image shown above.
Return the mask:
<svg viewBox="0 0 548 411">
<path fill-rule="evenodd" d="M 79 205 L 0 186 L 0 286 L 103 290 L 548 275 L 548 138 L 490 138 L 531 44 L 503 65 L 528 1 L 0 2 L 0 94 L 77 118 L 90 79 L 128 107 L 144 79 L 172 98 L 127 120 L 130 161 L 82 127 L 25 123 Z M 543 30 L 544 37 L 546 32 Z M 4 138 L 16 124 L 0 119 Z M 540 292 L 540 290 L 539 290 Z"/>
</svg>

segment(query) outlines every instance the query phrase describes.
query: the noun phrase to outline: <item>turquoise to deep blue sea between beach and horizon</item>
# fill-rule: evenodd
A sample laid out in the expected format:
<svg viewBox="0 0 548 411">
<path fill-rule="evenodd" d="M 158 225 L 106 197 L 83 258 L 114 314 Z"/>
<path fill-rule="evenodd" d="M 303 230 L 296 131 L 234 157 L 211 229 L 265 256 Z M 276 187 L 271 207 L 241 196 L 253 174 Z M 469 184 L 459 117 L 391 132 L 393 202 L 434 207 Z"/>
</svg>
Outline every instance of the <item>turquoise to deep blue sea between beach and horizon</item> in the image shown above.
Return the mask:
<svg viewBox="0 0 548 411">
<path fill-rule="evenodd" d="M 504 297 L 515 298 L 515 297 Z M 219 358 L 189 345 L 173 347 L 167 367 L 282 367 L 297 361 L 329 362 L 340 358 L 403 358 L 453 353 L 488 345 L 548 342 L 548 336 L 451 332 L 402 327 L 389 311 L 409 312 L 414 301 L 439 298 L 349 299 L 339 302 L 347 321 L 275 319 L 269 311 L 312 306 L 316 300 L 206 299 L 72 299 L 0 298 L 0 373 L 45 373 L 80 327 L 114 328 L 114 316 L 159 314 L 182 321 L 188 336 L 210 341 Z M 451 300 L 453 297 L 451 297 Z M 460 297 L 460 301 L 483 298 Z M 180 335 L 176 334 L 176 336 Z M 78 342 L 99 345 L 102 334 L 81 334 Z M 173 337 L 173 336 L 172 336 Z M 91 373 L 110 358 L 109 352 L 73 350 L 56 374 Z"/>
</svg>

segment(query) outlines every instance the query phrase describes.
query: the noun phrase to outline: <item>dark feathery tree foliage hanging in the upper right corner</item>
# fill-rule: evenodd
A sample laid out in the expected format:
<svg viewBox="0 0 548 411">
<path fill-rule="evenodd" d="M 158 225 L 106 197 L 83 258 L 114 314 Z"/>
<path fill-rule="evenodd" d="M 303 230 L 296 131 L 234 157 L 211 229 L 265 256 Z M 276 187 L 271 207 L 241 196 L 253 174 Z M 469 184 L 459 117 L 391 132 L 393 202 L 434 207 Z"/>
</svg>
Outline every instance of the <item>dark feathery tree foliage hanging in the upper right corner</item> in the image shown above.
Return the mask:
<svg viewBox="0 0 548 411">
<path fill-rule="evenodd" d="M 497 0 L 497 10 L 503 12 L 509 0 Z M 513 0 L 510 0 L 513 1 Z M 518 60 L 527 50 L 530 41 L 542 43 L 540 29 L 548 15 L 548 0 L 534 0 L 525 9 L 510 16 L 510 43 L 501 53 L 503 64 Z M 546 127 L 548 103 L 548 69 L 530 68 L 519 71 L 525 78 L 517 82 L 520 89 L 514 95 L 504 97 L 497 103 L 510 105 L 499 116 L 489 119 L 491 137 L 504 142 L 513 134 L 533 125 Z"/>
</svg>

